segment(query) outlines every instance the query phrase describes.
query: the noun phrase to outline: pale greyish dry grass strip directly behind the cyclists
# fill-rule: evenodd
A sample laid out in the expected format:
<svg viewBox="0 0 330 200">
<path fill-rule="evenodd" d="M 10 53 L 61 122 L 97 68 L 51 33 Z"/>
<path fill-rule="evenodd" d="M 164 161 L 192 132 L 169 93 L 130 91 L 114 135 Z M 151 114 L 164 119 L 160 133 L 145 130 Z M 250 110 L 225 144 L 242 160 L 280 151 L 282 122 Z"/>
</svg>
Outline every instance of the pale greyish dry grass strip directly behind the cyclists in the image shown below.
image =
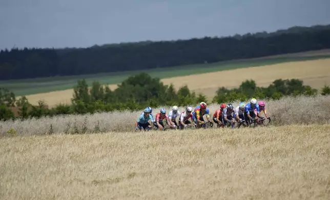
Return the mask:
<svg viewBox="0 0 330 200">
<path fill-rule="evenodd" d="M 236 107 L 239 102 L 233 105 Z M 197 105 L 196 105 L 197 106 Z M 219 105 L 209 105 L 210 114 L 219 108 Z M 168 112 L 170 107 L 166 107 Z M 275 126 L 285 124 L 325 124 L 330 123 L 330 96 L 316 97 L 284 97 L 280 101 L 266 101 L 267 112 L 272 116 Z M 153 108 L 153 114 L 159 108 Z M 183 108 L 179 108 L 183 111 Z M 43 117 L 40 119 L 15 120 L 0 122 L 0 136 L 8 135 L 14 129 L 15 135 L 44 135 L 61 133 L 91 132 L 130 132 L 135 128 L 135 120 L 142 111 L 96 113 L 86 115 L 65 115 Z M 52 131 L 50 127 L 52 126 Z M 10 135 L 10 134 L 9 134 Z"/>
</svg>

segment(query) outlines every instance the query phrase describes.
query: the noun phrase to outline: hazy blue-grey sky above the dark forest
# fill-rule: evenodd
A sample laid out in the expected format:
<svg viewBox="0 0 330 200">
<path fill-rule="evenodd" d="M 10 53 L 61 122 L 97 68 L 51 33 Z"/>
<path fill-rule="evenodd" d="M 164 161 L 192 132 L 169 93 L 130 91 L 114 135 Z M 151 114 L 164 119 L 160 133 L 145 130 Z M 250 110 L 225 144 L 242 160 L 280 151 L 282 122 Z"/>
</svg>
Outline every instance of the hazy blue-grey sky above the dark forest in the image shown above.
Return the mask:
<svg viewBox="0 0 330 200">
<path fill-rule="evenodd" d="M 0 49 L 88 47 L 330 23 L 329 0 L 0 0 Z"/>
</svg>

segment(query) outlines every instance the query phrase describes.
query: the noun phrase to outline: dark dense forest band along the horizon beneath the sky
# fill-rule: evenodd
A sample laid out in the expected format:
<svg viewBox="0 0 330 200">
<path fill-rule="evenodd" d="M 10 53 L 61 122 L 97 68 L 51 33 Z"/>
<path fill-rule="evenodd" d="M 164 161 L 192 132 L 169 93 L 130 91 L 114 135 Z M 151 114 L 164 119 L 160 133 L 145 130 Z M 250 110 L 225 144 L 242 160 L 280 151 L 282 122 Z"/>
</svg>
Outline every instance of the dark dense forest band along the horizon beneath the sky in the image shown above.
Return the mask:
<svg viewBox="0 0 330 200">
<path fill-rule="evenodd" d="M 0 80 L 171 67 L 330 48 L 330 25 L 274 33 L 0 52 Z"/>
</svg>

